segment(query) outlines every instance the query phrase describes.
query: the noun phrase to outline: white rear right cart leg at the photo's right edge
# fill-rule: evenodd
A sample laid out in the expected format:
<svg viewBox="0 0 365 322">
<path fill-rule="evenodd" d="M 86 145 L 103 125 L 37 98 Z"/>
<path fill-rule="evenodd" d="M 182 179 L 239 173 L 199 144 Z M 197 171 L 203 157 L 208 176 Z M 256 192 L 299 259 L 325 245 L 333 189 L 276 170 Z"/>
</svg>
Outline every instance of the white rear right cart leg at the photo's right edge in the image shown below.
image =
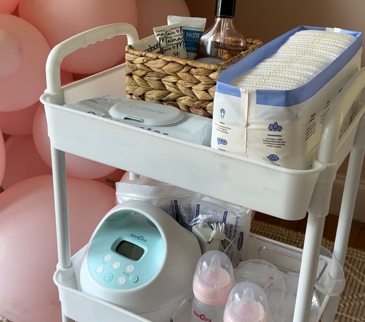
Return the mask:
<svg viewBox="0 0 365 322">
<path fill-rule="evenodd" d="M 355 202 L 358 193 L 361 171 L 363 168 L 365 150 L 352 149 L 349 166 L 342 196 L 340 216 L 338 220 L 336 240 L 333 254 L 339 260 L 342 267 L 345 263 L 346 250 L 350 237 L 351 223 L 354 215 Z M 333 322 L 338 308 L 340 296 L 329 300 L 324 311 L 322 322 Z"/>
</svg>

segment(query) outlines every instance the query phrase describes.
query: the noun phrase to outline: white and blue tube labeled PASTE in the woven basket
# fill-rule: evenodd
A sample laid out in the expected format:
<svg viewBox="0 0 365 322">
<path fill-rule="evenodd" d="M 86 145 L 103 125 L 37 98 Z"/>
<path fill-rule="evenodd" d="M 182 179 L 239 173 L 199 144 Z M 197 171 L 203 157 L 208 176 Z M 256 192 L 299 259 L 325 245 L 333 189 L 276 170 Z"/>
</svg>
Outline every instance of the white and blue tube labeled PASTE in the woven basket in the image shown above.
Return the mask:
<svg viewBox="0 0 365 322">
<path fill-rule="evenodd" d="M 173 15 L 167 17 L 167 23 L 169 25 L 175 23 L 182 25 L 185 48 L 188 53 L 188 59 L 190 60 L 196 60 L 197 58 L 198 41 L 204 32 L 206 22 L 206 18 L 179 17 Z"/>
</svg>

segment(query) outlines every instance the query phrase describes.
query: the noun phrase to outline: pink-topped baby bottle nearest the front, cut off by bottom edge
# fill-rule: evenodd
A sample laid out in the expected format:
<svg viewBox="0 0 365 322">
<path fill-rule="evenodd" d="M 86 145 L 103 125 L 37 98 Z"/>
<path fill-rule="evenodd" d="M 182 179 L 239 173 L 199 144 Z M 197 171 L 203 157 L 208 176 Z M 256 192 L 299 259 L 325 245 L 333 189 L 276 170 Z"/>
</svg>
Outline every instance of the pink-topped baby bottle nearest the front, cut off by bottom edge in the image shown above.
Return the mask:
<svg viewBox="0 0 365 322">
<path fill-rule="evenodd" d="M 268 304 L 265 292 L 257 284 L 242 282 L 229 294 L 223 322 L 267 322 Z"/>
</svg>

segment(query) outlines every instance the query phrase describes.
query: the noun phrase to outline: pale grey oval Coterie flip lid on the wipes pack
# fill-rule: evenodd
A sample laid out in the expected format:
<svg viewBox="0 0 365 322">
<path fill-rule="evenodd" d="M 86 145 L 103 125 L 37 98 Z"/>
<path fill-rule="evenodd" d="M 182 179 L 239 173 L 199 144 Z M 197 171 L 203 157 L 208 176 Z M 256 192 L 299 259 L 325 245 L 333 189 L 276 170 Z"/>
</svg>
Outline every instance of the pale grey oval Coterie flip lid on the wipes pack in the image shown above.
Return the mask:
<svg viewBox="0 0 365 322">
<path fill-rule="evenodd" d="M 109 114 L 115 119 L 150 126 L 174 125 L 185 118 L 178 108 L 127 98 L 113 105 Z"/>
</svg>

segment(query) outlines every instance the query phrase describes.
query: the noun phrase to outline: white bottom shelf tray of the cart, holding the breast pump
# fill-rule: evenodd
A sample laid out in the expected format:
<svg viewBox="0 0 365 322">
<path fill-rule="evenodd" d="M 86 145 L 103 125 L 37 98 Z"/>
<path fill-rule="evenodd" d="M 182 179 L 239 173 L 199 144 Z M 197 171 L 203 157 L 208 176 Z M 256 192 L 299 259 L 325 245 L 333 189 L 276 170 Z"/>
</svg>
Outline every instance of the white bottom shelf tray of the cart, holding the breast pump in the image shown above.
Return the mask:
<svg viewBox="0 0 365 322">
<path fill-rule="evenodd" d="M 73 257 L 73 267 L 76 275 L 77 288 L 79 289 L 79 272 L 85 247 L 80 249 Z M 276 242 L 265 237 L 251 234 L 249 238 L 249 251 L 247 259 L 264 259 L 272 262 L 282 272 L 298 273 L 302 250 L 281 242 Z M 147 320 L 115 305 L 102 301 L 93 296 L 86 295 L 78 289 L 70 287 L 68 281 L 63 280 L 62 272 L 57 270 L 54 282 L 59 289 L 62 311 L 68 318 L 77 322 L 163 322 L 156 318 Z M 323 313 L 328 297 L 319 295 L 320 313 Z M 188 322 L 191 317 L 191 299 L 171 308 L 170 322 Z M 173 311 L 176 311 L 175 313 Z M 320 314 L 321 315 L 321 314 Z M 320 317 L 319 315 L 319 317 Z M 317 321 L 319 321 L 319 317 Z M 151 318 L 149 318 L 151 319 Z M 153 318 L 152 318 L 153 319 Z M 169 322 L 169 321 L 166 321 Z"/>
</svg>

